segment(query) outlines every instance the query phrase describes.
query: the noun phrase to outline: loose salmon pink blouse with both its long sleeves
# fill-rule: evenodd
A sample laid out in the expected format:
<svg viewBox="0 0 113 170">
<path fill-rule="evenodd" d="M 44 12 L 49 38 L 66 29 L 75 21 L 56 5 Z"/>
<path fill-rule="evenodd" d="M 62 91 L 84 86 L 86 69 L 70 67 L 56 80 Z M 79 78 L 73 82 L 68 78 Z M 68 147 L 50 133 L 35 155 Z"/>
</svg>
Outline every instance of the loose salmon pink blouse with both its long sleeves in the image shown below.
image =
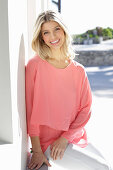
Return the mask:
<svg viewBox="0 0 113 170">
<path fill-rule="evenodd" d="M 84 126 L 91 115 L 92 95 L 84 67 L 74 60 L 56 68 L 38 55 L 25 66 L 26 114 L 29 136 L 40 135 L 40 125 L 63 130 L 70 143 L 87 144 Z"/>
</svg>

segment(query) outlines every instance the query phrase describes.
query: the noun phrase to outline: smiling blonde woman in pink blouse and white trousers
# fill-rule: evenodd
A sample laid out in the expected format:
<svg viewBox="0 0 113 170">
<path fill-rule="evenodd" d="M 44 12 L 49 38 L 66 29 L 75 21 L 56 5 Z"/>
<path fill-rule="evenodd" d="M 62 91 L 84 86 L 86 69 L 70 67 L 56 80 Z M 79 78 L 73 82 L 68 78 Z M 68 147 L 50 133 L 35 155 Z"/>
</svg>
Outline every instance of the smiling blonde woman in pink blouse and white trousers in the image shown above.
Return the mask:
<svg viewBox="0 0 113 170">
<path fill-rule="evenodd" d="M 91 89 L 84 67 L 74 60 L 59 13 L 49 10 L 39 15 L 32 48 L 36 55 L 26 65 L 27 130 L 32 144 L 28 168 L 108 170 L 101 156 L 97 160 L 87 151 L 93 148 L 87 146 L 84 128 L 91 116 Z"/>
</svg>

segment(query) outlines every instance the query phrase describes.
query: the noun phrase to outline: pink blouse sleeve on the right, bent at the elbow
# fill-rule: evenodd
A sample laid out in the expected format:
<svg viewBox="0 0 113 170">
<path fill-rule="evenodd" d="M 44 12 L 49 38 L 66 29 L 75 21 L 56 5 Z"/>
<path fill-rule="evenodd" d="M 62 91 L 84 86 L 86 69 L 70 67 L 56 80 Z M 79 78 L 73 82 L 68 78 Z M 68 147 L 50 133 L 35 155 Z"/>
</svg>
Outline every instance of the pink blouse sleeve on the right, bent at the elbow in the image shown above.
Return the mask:
<svg viewBox="0 0 113 170">
<path fill-rule="evenodd" d="M 87 74 L 84 70 L 82 75 L 81 91 L 80 91 L 80 107 L 75 120 L 70 124 L 69 130 L 63 132 L 61 136 L 72 142 L 73 139 L 78 141 L 85 136 L 84 126 L 88 122 L 91 115 L 92 94 Z"/>
</svg>

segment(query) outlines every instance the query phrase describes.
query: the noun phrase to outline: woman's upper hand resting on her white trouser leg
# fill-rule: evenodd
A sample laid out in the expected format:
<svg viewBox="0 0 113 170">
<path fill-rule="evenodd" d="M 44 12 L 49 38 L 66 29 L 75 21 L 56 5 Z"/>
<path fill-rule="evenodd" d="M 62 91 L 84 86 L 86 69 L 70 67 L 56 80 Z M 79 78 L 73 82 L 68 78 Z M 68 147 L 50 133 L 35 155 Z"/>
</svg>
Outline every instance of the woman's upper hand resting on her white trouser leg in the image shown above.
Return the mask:
<svg viewBox="0 0 113 170">
<path fill-rule="evenodd" d="M 57 160 L 58 157 L 62 159 L 67 145 L 68 145 L 68 140 L 64 137 L 58 138 L 55 142 L 53 142 L 50 145 L 50 149 L 51 149 L 50 155 L 53 158 L 53 160 Z"/>
</svg>

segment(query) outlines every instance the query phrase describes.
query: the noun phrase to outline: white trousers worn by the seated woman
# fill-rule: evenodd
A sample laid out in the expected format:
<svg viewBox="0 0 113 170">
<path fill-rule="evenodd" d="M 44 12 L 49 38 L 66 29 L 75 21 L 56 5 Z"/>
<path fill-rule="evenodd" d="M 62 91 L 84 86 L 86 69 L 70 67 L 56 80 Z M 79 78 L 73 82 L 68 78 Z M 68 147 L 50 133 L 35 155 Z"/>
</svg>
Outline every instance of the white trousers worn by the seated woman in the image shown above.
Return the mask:
<svg viewBox="0 0 113 170">
<path fill-rule="evenodd" d="M 39 170 L 112 170 L 100 152 L 92 145 L 80 148 L 68 144 L 62 159 L 53 160 L 50 146 L 44 153 L 51 167 L 43 164 Z"/>
</svg>

